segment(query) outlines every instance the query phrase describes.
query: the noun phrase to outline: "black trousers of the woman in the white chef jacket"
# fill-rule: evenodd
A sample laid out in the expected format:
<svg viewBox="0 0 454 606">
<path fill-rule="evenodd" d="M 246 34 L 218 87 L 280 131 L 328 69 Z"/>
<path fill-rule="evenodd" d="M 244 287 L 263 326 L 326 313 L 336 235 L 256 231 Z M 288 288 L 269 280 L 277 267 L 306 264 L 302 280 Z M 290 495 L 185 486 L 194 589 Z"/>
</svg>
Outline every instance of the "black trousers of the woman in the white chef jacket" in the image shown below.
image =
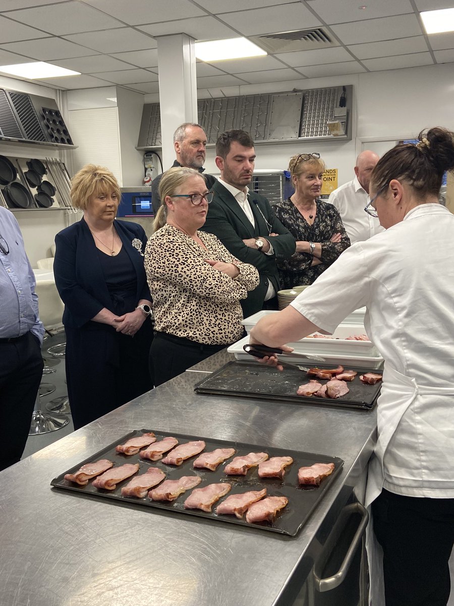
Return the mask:
<svg viewBox="0 0 454 606">
<path fill-rule="evenodd" d="M 373 530 L 383 548 L 386 606 L 446 606 L 454 499 L 383 490 L 372 512 Z"/>
</svg>

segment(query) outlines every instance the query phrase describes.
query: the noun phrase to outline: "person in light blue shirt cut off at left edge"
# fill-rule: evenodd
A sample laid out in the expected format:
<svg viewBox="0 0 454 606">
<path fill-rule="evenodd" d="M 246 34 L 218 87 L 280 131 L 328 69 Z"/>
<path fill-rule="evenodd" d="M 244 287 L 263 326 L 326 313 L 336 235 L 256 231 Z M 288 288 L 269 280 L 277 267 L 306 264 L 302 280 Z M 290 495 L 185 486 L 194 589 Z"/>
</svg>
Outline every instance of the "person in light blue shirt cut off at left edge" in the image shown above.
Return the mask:
<svg viewBox="0 0 454 606">
<path fill-rule="evenodd" d="M 21 460 L 42 377 L 35 285 L 18 222 L 0 206 L 0 470 Z"/>
</svg>

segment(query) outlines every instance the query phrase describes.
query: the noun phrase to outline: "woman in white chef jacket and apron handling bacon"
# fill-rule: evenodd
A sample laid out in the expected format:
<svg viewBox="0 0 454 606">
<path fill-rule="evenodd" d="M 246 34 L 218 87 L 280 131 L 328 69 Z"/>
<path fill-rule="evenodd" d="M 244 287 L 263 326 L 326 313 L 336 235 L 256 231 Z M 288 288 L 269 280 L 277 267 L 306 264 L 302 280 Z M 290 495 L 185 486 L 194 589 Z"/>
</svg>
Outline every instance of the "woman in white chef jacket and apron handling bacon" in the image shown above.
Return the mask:
<svg viewBox="0 0 454 606">
<path fill-rule="evenodd" d="M 367 307 L 367 335 L 385 361 L 366 505 L 383 548 L 386 606 L 442 606 L 450 593 L 454 215 L 438 192 L 453 168 L 454 133 L 443 128 L 388 151 L 373 170 L 365 209 L 386 231 L 347 248 L 289 307 L 251 331 L 251 342 L 278 347 L 315 330 L 332 333 Z M 264 361 L 278 365 L 274 356 Z M 383 595 L 373 601 L 383 603 Z"/>
</svg>

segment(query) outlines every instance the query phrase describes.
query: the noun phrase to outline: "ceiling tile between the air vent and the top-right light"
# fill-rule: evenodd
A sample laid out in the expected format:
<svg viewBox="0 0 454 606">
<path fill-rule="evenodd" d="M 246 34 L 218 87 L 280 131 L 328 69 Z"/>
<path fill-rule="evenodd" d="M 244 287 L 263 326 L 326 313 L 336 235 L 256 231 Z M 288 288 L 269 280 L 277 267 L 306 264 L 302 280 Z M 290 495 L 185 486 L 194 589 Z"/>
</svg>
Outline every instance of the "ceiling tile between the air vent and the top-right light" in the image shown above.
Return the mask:
<svg viewBox="0 0 454 606">
<path fill-rule="evenodd" d="M 395 38 L 419 36 L 423 33 L 416 15 L 398 15 L 332 25 L 332 30 L 343 44 L 394 40 Z"/>
</svg>

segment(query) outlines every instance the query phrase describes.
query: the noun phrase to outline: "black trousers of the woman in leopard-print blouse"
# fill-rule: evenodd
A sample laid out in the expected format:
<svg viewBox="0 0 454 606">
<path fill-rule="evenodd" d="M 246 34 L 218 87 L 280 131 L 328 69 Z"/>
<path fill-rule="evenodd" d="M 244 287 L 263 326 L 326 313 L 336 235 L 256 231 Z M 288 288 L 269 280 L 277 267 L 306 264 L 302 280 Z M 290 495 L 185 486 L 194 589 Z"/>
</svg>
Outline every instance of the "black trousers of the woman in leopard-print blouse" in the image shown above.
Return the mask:
<svg viewBox="0 0 454 606">
<path fill-rule="evenodd" d="M 154 333 L 150 348 L 150 368 L 154 372 L 154 385 L 162 385 L 185 370 L 202 362 L 228 345 L 203 345 L 166 333 Z"/>
</svg>

